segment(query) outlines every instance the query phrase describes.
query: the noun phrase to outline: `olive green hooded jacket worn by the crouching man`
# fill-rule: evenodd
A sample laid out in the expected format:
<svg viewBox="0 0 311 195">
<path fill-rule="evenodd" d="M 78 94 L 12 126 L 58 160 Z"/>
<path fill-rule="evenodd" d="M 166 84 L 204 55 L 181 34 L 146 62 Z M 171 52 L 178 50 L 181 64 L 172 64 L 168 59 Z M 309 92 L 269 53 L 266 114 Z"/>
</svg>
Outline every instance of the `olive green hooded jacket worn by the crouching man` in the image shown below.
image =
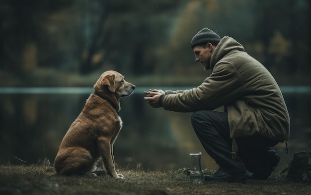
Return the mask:
<svg viewBox="0 0 311 195">
<path fill-rule="evenodd" d="M 270 72 L 233 38 L 225 36 L 211 58 L 212 74 L 193 89 L 165 91 L 165 110 L 195 112 L 225 106 L 231 138 L 256 132 L 288 140 L 290 117 L 280 88 Z"/>
</svg>

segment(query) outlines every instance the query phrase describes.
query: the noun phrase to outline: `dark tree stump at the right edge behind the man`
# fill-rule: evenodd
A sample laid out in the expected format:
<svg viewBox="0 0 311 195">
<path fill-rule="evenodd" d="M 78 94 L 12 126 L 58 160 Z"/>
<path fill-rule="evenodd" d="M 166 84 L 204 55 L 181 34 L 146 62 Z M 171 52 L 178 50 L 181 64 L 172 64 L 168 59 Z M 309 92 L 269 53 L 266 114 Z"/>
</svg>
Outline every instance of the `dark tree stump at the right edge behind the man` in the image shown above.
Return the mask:
<svg viewBox="0 0 311 195">
<path fill-rule="evenodd" d="M 311 184 L 311 151 L 294 154 L 288 167 L 287 178 L 293 182 Z"/>
</svg>

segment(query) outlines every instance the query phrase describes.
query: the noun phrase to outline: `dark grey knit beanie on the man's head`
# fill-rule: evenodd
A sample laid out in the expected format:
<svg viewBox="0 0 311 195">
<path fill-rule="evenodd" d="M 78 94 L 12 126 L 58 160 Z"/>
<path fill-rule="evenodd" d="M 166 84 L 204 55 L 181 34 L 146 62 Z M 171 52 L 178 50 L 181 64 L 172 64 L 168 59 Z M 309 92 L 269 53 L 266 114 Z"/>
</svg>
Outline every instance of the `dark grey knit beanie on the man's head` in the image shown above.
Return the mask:
<svg viewBox="0 0 311 195">
<path fill-rule="evenodd" d="M 211 43 L 213 45 L 217 45 L 219 42 L 220 37 L 218 34 L 208 28 L 203 28 L 192 38 L 191 48 L 193 49 L 195 45 L 201 43 Z"/>
</svg>

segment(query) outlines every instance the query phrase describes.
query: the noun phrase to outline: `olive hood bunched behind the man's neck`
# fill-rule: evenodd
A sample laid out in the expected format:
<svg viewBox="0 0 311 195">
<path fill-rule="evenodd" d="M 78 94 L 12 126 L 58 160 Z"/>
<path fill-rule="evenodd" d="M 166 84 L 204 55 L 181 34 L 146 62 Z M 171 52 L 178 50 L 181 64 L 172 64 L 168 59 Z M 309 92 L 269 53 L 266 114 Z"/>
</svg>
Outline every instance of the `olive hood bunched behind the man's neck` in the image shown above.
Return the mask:
<svg viewBox="0 0 311 195">
<path fill-rule="evenodd" d="M 244 52 L 244 47 L 235 41 L 232 37 L 225 36 L 222 38 L 212 55 L 211 70 L 213 71 L 213 68 L 217 62 L 233 50 Z"/>
</svg>

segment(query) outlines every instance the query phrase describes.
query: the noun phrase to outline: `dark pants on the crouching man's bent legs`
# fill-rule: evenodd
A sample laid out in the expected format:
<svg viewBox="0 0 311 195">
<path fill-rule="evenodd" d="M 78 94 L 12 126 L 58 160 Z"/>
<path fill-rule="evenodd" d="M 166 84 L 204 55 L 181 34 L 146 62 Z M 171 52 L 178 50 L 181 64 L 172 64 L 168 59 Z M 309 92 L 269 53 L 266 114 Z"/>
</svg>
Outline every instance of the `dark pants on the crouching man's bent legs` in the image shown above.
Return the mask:
<svg viewBox="0 0 311 195">
<path fill-rule="evenodd" d="M 238 145 L 236 159 L 232 159 L 232 139 L 228 124 L 228 113 L 209 110 L 196 111 L 191 117 L 195 130 L 206 152 L 216 161 L 220 169 L 230 173 L 260 172 L 268 158 L 269 147 L 278 141 L 255 134 L 235 138 Z"/>
</svg>

